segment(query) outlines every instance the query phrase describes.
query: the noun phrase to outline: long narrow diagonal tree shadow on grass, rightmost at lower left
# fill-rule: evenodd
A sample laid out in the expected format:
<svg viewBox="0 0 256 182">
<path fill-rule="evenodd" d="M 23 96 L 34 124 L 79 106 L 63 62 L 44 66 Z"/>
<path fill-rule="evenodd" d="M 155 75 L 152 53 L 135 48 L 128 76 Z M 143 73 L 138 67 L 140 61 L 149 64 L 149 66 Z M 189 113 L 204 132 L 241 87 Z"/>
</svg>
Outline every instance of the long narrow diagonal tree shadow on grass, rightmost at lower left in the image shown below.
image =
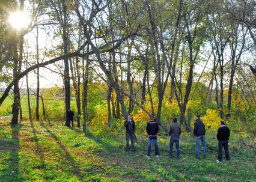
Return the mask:
<svg viewBox="0 0 256 182">
<path fill-rule="evenodd" d="M 64 151 L 64 156 L 67 159 L 67 162 L 64 163 L 64 165 L 66 166 L 72 166 L 72 174 L 75 175 L 76 177 L 78 177 L 80 180 L 84 181 L 84 174 L 82 174 L 79 169 L 80 169 L 80 165 L 73 159 L 73 157 L 70 155 L 70 153 L 67 151 L 66 147 L 64 147 L 64 145 L 59 141 L 59 138 L 52 133 L 52 131 L 50 131 L 42 121 L 39 121 L 40 125 L 46 129 L 47 133 L 49 133 L 49 135 L 55 140 L 56 144 L 59 145 L 59 147 L 61 148 L 62 151 Z"/>
</svg>

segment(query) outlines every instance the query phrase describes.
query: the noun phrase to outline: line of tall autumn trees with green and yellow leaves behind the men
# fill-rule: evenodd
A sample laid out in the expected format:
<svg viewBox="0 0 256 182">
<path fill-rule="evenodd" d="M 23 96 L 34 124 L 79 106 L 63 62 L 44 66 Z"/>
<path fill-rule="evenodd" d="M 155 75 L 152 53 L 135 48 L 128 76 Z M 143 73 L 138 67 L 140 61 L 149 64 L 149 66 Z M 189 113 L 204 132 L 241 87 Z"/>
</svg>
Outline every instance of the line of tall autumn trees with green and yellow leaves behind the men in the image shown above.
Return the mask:
<svg viewBox="0 0 256 182">
<path fill-rule="evenodd" d="M 161 123 L 168 100 L 177 103 L 180 123 L 190 131 L 187 105 L 195 97 L 203 105 L 215 103 L 222 119 L 236 115 L 237 107 L 245 108 L 245 118 L 252 118 L 255 7 L 252 0 L 1 2 L 0 79 L 7 87 L 0 105 L 13 88 L 11 124 L 18 123 L 19 115 L 22 120 L 19 80 L 26 76 L 29 85 L 28 73 L 34 71 L 39 120 L 40 68 L 51 65 L 47 68 L 62 76 L 66 115 L 73 86 L 78 127 L 82 118 L 84 132 L 88 90 L 94 89 L 89 85 L 95 80 L 106 85 L 108 126 L 112 117 L 126 118 L 135 108 Z M 31 23 L 16 30 L 8 14 L 25 8 Z M 25 41 L 29 34 L 34 41 Z M 55 45 L 40 48 L 40 34 Z M 29 86 L 27 93 L 29 108 Z"/>
</svg>

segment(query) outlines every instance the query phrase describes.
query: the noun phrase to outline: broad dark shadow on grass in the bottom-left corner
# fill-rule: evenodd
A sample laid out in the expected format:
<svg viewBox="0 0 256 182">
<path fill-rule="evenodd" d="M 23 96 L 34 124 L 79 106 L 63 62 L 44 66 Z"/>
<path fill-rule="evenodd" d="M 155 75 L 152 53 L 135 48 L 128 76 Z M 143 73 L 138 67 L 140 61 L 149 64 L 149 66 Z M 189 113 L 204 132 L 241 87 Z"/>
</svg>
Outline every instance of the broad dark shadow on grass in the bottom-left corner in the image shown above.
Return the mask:
<svg viewBox="0 0 256 182">
<path fill-rule="evenodd" d="M 0 171 L 1 181 L 22 181 L 19 172 L 19 131 L 21 124 L 11 127 L 11 139 L 0 140 L 0 151 L 4 156 L 4 167 Z M 1 160 L 0 160 L 1 161 Z"/>
</svg>

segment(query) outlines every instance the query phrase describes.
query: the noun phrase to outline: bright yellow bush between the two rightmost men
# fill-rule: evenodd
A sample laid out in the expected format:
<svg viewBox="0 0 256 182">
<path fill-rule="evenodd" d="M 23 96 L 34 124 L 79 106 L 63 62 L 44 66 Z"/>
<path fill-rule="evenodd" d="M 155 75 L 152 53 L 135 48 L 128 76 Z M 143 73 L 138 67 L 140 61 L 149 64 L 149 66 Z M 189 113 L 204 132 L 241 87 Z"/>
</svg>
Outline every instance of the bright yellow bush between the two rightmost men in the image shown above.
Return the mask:
<svg viewBox="0 0 256 182">
<path fill-rule="evenodd" d="M 216 132 L 222 119 L 219 117 L 218 111 L 215 109 L 207 109 L 206 115 L 201 117 L 201 120 L 206 125 L 206 130 L 212 130 Z"/>
</svg>

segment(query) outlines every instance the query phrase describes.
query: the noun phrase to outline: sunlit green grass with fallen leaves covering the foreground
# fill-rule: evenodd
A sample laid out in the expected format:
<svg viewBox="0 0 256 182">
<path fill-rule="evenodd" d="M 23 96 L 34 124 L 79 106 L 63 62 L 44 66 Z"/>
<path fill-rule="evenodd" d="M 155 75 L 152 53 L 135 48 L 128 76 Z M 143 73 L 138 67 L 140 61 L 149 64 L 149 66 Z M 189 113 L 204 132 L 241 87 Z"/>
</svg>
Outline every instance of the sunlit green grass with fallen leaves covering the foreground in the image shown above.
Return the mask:
<svg viewBox="0 0 256 182">
<path fill-rule="evenodd" d="M 180 160 L 168 157 L 168 136 L 159 136 L 160 157 L 145 157 L 147 138 L 135 153 L 124 151 L 124 135 L 85 137 L 80 129 L 0 120 L 0 181 L 256 181 L 255 137 L 230 140 L 231 161 L 216 163 L 217 141 L 207 133 L 207 158 L 195 159 L 195 139 L 182 135 Z M 175 153 L 174 153 L 175 154 Z"/>
</svg>

